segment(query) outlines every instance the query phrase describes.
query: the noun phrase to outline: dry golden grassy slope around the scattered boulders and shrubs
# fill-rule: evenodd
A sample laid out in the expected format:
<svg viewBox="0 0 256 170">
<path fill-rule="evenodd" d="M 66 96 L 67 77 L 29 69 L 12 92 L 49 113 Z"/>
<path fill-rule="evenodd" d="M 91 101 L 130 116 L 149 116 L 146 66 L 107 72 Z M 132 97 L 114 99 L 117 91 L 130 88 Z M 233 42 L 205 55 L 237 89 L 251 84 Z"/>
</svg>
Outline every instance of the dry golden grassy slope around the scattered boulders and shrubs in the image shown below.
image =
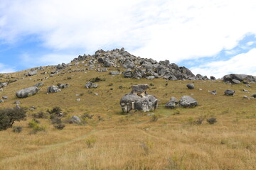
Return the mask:
<svg viewBox="0 0 256 170">
<path fill-rule="evenodd" d="M 77 68 L 83 69 L 72 67 Z M 21 79 L 23 73 L 12 74 L 20 80 L 0 91 L 0 96 L 9 96 L 0 107 L 14 107 L 14 101 L 21 101 L 21 106 L 37 109 L 28 112 L 26 121 L 15 123 L 23 126 L 20 134 L 11 129 L 0 132 L 0 169 L 256 169 L 256 100 L 242 98 L 256 92 L 255 84 L 249 89 L 244 84 L 193 81 L 196 89 L 188 90 L 186 84 L 191 81 L 150 81 L 124 79 L 108 72 L 71 72 L 43 80 L 45 86 L 38 94 L 20 99 L 15 91 L 48 76 L 38 74 Z M 100 81 L 97 89 L 85 89 L 85 83 L 95 77 L 106 81 Z M 48 86 L 58 83 L 68 83 L 70 87 L 46 94 Z M 159 98 L 159 108 L 150 113 L 158 113 L 159 120 L 151 122 L 151 116 L 141 112 L 121 114 L 119 100 L 131 91 L 132 84 L 154 84 L 148 93 Z M 213 89 L 218 92 L 216 96 L 208 93 Z M 225 89 L 235 90 L 235 96 L 224 96 Z M 191 94 L 198 100 L 196 108 L 164 108 L 171 96 Z M 63 130 L 55 130 L 47 119 L 41 120 L 41 124 L 47 125 L 46 132 L 30 135 L 31 114 L 54 106 L 60 106 L 68 115 L 90 113 L 95 117 L 87 125 L 66 124 Z M 97 120 L 96 115 L 105 121 Z M 194 125 L 193 121 L 200 117 L 215 117 L 218 123 L 209 125 L 205 120 Z M 90 137 L 97 142 L 87 148 L 85 141 Z"/>
</svg>

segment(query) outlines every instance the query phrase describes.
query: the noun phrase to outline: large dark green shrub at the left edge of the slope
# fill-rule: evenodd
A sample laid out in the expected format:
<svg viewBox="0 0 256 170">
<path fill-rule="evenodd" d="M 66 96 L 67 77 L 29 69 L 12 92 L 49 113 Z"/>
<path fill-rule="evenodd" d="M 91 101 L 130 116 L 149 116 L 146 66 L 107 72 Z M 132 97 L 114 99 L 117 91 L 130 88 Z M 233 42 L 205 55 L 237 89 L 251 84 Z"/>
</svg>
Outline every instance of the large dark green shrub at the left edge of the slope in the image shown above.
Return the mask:
<svg viewBox="0 0 256 170">
<path fill-rule="evenodd" d="M 0 130 L 11 128 L 15 121 L 26 119 L 25 108 L 0 109 Z"/>
</svg>

